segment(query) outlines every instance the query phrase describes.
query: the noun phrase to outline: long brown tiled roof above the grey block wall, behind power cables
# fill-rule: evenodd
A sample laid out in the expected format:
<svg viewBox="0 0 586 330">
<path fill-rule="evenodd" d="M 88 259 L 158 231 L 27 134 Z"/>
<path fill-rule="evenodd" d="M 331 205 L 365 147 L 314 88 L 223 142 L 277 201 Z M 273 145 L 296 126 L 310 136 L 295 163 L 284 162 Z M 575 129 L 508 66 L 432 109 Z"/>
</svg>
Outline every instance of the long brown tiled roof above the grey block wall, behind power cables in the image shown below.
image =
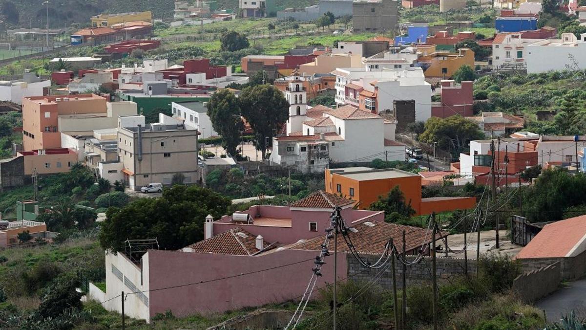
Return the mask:
<svg viewBox="0 0 586 330">
<path fill-rule="evenodd" d="M 359 224 L 354 226 L 356 233 L 349 232 L 350 240 L 356 247 L 356 251 L 365 254 L 381 254 L 384 251 L 384 245 L 387 244 L 390 238 L 393 238 L 395 244 L 402 243 L 403 230 L 405 230 L 406 250 L 411 251 L 420 248 L 425 243 L 431 243 L 431 231 L 427 228 L 412 227 L 410 225 L 400 225 L 394 223 L 370 223 Z M 447 236 L 448 233 L 442 232 L 442 236 Z M 438 239 L 439 239 L 438 235 Z M 349 252 L 343 238 L 338 238 L 338 252 Z M 315 237 L 301 243 L 290 245 L 291 250 L 321 250 L 323 244 L 323 237 Z M 333 242 L 329 245 L 333 250 Z"/>
</svg>

